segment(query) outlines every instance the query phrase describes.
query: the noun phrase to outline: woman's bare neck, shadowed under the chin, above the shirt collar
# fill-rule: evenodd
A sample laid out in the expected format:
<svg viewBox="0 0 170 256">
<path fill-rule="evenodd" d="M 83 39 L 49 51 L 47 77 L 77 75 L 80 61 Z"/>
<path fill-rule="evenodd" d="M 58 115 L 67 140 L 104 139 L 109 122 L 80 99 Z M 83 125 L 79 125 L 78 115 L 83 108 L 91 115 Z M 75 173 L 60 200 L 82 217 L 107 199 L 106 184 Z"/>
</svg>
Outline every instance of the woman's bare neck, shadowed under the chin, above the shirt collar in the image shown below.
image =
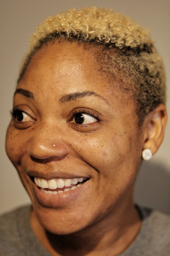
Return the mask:
<svg viewBox="0 0 170 256">
<path fill-rule="evenodd" d="M 53 256 L 118 255 L 132 243 L 141 225 L 132 200 L 118 204 L 100 221 L 72 234 L 56 235 L 45 231 L 34 211 L 31 214 L 32 228 Z"/>
</svg>

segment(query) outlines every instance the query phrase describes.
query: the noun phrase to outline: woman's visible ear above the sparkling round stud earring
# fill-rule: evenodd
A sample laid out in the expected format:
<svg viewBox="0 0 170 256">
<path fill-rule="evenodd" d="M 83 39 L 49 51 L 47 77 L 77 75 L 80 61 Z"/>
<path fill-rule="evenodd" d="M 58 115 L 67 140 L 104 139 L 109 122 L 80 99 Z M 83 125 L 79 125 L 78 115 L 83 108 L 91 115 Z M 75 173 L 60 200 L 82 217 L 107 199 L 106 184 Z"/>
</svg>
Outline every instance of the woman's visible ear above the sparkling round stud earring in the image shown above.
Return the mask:
<svg viewBox="0 0 170 256">
<path fill-rule="evenodd" d="M 143 123 L 143 149 L 150 148 L 155 154 L 164 138 L 167 112 L 164 104 L 159 104 L 145 118 Z"/>
</svg>

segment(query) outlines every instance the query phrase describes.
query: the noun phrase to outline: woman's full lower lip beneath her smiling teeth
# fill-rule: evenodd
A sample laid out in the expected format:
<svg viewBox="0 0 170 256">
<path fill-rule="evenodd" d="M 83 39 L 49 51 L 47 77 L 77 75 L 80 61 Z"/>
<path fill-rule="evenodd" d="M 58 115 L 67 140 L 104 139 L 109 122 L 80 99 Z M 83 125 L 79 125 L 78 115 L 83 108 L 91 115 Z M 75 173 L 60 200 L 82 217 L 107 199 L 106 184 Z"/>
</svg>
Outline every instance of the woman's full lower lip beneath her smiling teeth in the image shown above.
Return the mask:
<svg viewBox="0 0 170 256">
<path fill-rule="evenodd" d="M 72 203 L 73 201 L 78 200 L 78 198 L 83 193 L 85 193 L 88 183 L 89 180 L 83 183 L 80 187 L 56 195 L 45 194 L 37 187 L 35 183 L 33 183 L 32 187 L 34 196 L 39 204 L 45 207 L 64 207 Z"/>
</svg>

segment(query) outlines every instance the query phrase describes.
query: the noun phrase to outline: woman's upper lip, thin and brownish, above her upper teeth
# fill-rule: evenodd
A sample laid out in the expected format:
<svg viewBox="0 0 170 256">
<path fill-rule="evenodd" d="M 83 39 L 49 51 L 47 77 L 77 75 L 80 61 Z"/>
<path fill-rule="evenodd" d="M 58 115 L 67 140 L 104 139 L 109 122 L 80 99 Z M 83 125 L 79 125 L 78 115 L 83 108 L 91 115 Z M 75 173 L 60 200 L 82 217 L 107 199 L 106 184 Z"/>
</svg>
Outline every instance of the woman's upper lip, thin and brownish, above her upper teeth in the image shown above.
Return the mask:
<svg viewBox="0 0 170 256">
<path fill-rule="evenodd" d="M 76 174 L 71 174 L 71 173 L 66 173 L 66 172 L 48 172 L 48 173 L 43 173 L 39 171 L 27 171 L 27 174 L 31 177 L 38 177 L 42 178 L 45 180 L 51 180 L 51 179 L 75 179 L 75 178 L 89 178 L 87 175 L 76 175 Z"/>
</svg>

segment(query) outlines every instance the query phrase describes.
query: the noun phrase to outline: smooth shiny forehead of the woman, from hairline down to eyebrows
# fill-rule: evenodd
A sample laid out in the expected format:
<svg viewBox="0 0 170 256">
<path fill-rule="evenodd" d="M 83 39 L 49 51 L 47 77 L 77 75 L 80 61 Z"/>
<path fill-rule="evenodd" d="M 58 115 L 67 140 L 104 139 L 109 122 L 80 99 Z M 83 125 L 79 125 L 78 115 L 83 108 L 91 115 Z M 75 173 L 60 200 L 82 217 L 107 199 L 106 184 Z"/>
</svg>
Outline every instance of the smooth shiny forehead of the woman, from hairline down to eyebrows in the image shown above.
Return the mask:
<svg viewBox="0 0 170 256">
<path fill-rule="evenodd" d="M 50 42 L 40 48 L 31 58 L 18 88 L 33 93 L 56 91 L 63 94 L 95 91 L 108 101 L 119 98 L 122 102 L 129 96 L 118 89 L 118 82 L 110 82 L 108 75 L 101 72 L 93 52 L 95 46 L 84 47 L 78 42 Z"/>
</svg>

